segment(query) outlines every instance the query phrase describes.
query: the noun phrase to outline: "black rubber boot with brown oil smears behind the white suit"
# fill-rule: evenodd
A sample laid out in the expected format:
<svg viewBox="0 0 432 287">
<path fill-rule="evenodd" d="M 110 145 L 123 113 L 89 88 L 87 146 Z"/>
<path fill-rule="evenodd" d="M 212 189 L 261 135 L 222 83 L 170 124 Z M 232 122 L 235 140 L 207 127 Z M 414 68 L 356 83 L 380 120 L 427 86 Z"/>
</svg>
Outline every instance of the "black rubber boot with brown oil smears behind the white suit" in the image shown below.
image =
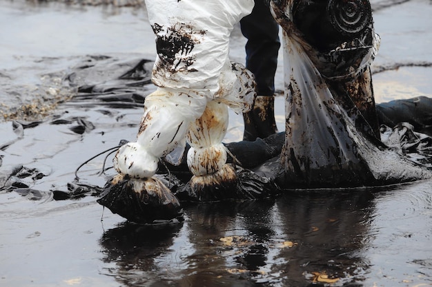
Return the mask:
<svg viewBox="0 0 432 287">
<path fill-rule="evenodd" d="M 243 140 L 254 141 L 277 133 L 275 97 L 257 96 L 251 111 L 243 114 Z"/>
</svg>

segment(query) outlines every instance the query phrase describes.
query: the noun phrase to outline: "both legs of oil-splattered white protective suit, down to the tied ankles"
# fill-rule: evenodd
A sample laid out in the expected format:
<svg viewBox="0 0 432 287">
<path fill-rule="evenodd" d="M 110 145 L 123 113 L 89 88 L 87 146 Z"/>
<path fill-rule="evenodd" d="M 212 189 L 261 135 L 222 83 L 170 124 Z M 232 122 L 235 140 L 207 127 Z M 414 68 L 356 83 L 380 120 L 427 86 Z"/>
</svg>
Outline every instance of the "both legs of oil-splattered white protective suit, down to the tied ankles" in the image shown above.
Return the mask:
<svg viewBox="0 0 432 287">
<path fill-rule="evenodd" d="M 226 167 L 222 139 L 228 125 L 227 105 L 244 112 L 255 96 L 253 76 L 228 59 L 233 26 L 254 6 L 253 0 L 146 0 L 156 36 L 153 83 L 136 142 L 115 156 L 115 169 L 147 180 L 159 158 L 191 146 L 188 167 L 192 184 L 213 184 L 212 178 L 235 176 Z"/>
</svg>

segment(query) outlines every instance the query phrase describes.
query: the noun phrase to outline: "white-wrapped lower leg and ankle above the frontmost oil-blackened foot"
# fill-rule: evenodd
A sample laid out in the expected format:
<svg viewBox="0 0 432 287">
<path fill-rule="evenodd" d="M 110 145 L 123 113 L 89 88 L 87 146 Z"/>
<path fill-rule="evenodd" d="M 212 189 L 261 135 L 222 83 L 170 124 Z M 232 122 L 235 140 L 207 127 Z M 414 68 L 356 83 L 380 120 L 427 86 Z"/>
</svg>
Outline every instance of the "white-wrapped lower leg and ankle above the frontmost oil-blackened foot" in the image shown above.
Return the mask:
<svg viewBox="0 0 432 287">
<path fill-rule="evenodd" d="M 186 140 L 190 123 L 201 116 L 206 104 L 206 98 L 181 89 L 158 88 L 148 95 L 137 142 L 119 149 L 115 169 L 131 178 L 153 176 L 159 158 Z"/>
</svg>

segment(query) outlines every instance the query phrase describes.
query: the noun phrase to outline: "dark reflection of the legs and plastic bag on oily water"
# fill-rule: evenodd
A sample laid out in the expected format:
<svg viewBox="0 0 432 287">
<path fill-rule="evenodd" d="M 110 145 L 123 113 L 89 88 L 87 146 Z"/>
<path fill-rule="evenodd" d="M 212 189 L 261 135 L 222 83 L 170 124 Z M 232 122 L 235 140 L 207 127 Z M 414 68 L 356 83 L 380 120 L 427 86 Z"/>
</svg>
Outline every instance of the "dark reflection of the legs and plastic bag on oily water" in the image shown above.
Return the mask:
<svg viewBox="0 0 432 287">
<path fill-rule="evenodd" d="M 375 205 L 370 190 L 187 206 L 169 226 L 104 233 L 107 270 L 128 286 L 308 286 L 362 282 Z M 336 280 L 337 279 L 337 280 Z M 316 281 L 316 280 L 315 280 Z"/>
</svg>

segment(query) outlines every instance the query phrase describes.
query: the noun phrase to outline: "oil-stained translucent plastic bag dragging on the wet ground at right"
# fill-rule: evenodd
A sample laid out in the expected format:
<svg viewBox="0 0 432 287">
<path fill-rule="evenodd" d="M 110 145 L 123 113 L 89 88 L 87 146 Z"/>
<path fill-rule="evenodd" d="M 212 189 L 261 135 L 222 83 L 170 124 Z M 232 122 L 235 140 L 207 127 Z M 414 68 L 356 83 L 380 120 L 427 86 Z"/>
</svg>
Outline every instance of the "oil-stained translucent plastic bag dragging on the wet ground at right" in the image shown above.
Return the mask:
<svg viewBox="0 0 432 287">
<path fill-rule="evenodd" d="M 322 76 L 317 59 L 312 59 L 319 53 L 289 19 L 293 2 L 282 1 L 279 7 L 273 3 L 273 12 L 284 29 L 286 83 L 286 139 L 279 184 L 284 188 L 361 187 L 429 178 L 429 171 L 386 149 L 370 132 L 372 127 L 369 132 L 364 129 L 368 122 L 362 111 L 354 100 L 346 100 L 354 94 L 351 90 L 341 95 L 337 94 L 340 90 L 331 89 L 328 76 Z M 367 55 L 373 60 L 373 53 Z M 356 68 L 355 77 L 367 72 L 367 66 L 366 70 Z M 351 82 L 352 76 L 342 81 Z"/>
</svg>

